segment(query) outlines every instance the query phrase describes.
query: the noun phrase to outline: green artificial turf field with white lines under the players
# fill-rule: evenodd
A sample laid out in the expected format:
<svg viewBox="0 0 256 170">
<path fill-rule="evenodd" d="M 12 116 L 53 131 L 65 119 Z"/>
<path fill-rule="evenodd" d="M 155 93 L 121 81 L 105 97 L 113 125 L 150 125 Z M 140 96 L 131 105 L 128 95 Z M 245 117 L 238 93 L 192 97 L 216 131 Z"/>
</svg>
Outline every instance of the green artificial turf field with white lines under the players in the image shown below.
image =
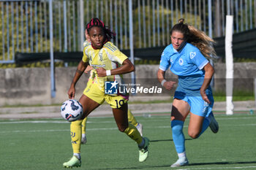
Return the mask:
<svg viewBox="0 0 256 170">
<path fill-rule="evenodd" d="M 190 165 L 176 169 L 256 169 L 256 115 L 215 117 L 219 133 L 208 128 L 199 139 L 187 135 L 187 118 Z M 139 163 L 137 144 L 117 130 L 113 117 L 89 117 L 78 169 L 175 169 L 170 168 L 177 159 L 170 116 L 136 118 L 151 140 L 146 162 Z M 69 123 L 64 120 L 0 120 L 0 129 L 0 169 L 64 169 L 62 163 L 72 157 Z"/>
</svg>

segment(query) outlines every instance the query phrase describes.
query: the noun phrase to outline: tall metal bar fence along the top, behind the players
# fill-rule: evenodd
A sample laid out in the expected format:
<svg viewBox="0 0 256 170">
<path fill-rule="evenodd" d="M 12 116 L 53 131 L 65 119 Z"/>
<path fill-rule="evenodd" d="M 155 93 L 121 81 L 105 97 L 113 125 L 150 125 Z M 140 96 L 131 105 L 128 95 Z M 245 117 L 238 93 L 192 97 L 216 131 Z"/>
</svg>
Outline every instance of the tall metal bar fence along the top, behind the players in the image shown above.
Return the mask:
<svg viewBox="0 0 256 170">
<path fill-rule="evenodd" d="M 179 18 L 211 37 L 224 36 L 225 15 L 234 15 L 235 33 L 256 28 L 256 0 L 0 0 L 0 9 L 0 63 L 15 62 L 17 52 L 50 52 L 50 33 L 54 51 L 82 51 L 84 26 L 95 17 L 116 32 L 113 42 L 121 50 L 169 44 Z"/>
</svg>

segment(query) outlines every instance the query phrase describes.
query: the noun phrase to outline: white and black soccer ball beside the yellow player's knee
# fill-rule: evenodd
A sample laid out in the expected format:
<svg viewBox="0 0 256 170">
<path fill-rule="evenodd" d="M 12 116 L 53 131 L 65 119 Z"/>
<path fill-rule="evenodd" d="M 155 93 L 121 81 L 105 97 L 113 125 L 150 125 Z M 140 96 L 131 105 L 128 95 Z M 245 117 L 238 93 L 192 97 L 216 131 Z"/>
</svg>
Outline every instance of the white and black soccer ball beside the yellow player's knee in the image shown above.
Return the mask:
<svg viewBox="0 0 256 170">
<path fill-rule="evenodd" d="M 61 116 L 69 122 L 79 120 L 83 115 L 83 106 L 75 99 L 64 101 L 61 105 Z"/>
</svg>

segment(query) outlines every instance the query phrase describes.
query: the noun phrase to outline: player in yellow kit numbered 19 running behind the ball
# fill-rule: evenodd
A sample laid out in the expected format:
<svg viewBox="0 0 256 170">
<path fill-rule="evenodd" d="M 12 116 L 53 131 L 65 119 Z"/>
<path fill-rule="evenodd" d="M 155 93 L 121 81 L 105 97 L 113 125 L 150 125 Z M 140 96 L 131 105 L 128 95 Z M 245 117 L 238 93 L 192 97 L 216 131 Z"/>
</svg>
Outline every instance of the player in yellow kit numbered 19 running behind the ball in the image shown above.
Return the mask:
<svg viewBox="0 0 256 170">
<path fill-rule="evenodd" d="M 121 53 L 118 48 L 109 41 L 113 38 L 114 34 L 105 28 L 101 20 L 92 18 L 87 24 L 86 29 L 89 33 L 91 43 L 83 49 L 83 58 L 78 64 L 77 71 L 75 72 L 75 76 L 68 91 L 69 98 L 75 97 L 75 84 L 78 82 L 86 67 L 90 65 L 94 69 L 91 71 L 89 82 L 87 83 L 86 89 L 83 91 L 83 95 L 79 99 L 80 104 L 83 105 L 83 116 L 81 120 L 76 120 L 70 125 L 73 157 L 63 163 L 63 166 L 66 168 L 81 166 L 81 123 L 85 117 L 104 101 L 112 107 L 118 130 L 124 132 L 137 142 L 139 147 L 139 161 L 146 161 L 146 158 L 148 158 L 149 140 L 146 137 L 140 136 L 138 129 L 128 123 L 128 96 L 125 94 L 118 94 L 116 96 L 105 94 L 105 82 L 121 80 L 121 74 L 133 72 L 135 67 L 127 56 Z"/>
</svg>

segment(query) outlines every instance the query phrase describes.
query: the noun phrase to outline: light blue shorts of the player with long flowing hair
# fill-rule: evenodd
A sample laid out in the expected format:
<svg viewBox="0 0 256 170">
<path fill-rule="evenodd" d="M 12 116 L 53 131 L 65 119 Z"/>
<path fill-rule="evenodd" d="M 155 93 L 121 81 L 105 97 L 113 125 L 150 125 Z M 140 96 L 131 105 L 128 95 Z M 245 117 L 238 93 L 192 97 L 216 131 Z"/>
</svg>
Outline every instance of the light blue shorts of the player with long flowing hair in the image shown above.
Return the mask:
<svg viewBox="0 0 256 170">
<path fill-rule="evenodd" d="M 214 107 L 214 97 L 212 95 L 211 88 L 206 90 L 206 95 L 208 96 L 209 101 L 211 101 L 211 104 L 208 104 L 203 100 L 200 95 L 200 90 L 185 90 L 183 88 L 177 88 L 173 98 L 187 101 L 190 106 L 190 112 L 195 115 L 207 117 L 211 113 L 212 107 Z"/>
</svg>

